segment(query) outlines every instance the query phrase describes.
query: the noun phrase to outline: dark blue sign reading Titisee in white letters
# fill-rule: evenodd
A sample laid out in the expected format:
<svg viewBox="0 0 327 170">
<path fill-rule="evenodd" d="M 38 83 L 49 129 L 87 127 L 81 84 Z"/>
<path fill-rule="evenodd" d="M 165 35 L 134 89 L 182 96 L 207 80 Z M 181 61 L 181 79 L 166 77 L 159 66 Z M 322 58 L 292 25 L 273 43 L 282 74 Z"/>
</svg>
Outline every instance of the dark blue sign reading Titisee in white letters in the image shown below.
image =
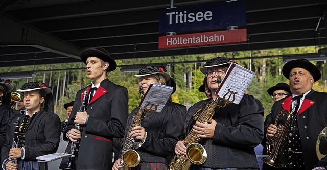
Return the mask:
<svg viewBox="0 0 327 170">
<path fill-rule="evenodd" d="M 162 9 L 159 34 L 226 30 L 246 26 L 245 0 Z"/>
</svg>

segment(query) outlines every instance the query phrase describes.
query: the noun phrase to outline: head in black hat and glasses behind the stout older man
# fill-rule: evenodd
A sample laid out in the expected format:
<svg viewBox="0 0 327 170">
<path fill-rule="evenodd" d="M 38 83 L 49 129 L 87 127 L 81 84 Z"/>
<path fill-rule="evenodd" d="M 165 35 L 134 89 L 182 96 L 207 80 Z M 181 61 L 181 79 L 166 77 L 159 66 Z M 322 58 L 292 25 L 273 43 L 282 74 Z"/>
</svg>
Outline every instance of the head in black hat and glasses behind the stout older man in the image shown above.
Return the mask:
<svg viewBox="0 0 327 170">
<path fill-rule="evenodd" d="M 277 83 L 267 90 L 268 94 L 277 102 L 291 94 L 290 86 L 286 83 Z"/>
</svg>

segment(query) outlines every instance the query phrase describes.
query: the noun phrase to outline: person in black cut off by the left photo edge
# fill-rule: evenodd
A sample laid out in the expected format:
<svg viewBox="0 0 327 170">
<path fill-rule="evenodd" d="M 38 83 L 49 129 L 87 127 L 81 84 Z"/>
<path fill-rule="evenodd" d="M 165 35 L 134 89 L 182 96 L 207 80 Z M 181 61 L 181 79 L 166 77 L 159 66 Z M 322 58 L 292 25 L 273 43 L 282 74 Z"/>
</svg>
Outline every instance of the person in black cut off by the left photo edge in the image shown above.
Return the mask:
<svg viewBox="0 0 327 170">
<path fill-rule="evenodd" d="M 11 109 L 4 104 L 6 96 L 12 90 L 11 84 L 4 79 L 0 79 L 0 148 L 6 141 L 6 128 L 10 117 Z"/>
</svg>

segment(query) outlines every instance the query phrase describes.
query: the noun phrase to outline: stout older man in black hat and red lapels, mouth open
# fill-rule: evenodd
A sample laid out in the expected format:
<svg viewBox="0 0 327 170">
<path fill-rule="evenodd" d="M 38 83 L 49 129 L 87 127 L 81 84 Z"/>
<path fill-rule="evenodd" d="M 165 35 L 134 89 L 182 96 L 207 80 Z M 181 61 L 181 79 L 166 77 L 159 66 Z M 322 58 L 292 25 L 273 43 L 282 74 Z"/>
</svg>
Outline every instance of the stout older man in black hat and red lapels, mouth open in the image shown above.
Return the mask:
<svg viewBox="0 0 327 170">
<path fill-rule="evenodd" d="M 290 111 L 281 114 L 278 124 L 288 129 L 281 136 L 280 150 L 276 150 L 277 157 L 274 166 L 284 169 L 325 169 L 327 158 L 320 161 L 316 155 L 316 141 L 319 133 L 327 126 L 327 93 L 312 89 L 314 82 L 321 77 L 319 69 L 306 59 L 287 62 L 283 66 L 283 75 L 289 79 L 292 96 L 274 103 L 270 115 L 265 123 L 268 137 L 276 133 L 276 118 L 282 110 Z"/>
</svg>

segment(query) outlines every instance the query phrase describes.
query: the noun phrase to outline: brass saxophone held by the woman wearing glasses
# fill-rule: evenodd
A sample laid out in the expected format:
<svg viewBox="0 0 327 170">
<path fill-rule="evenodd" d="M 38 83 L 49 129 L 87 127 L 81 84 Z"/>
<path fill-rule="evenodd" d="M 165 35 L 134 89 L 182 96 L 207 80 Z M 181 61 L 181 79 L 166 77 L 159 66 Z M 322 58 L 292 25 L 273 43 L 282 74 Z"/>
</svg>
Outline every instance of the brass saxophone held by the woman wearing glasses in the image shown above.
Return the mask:
<svg viewBox="0 0 327 170">
<path fill-rule="evenodd" d="M 237 92 L 232 92 L 228 89 L 228 92 L 220 98 L 213 100 L 211 99 L 209 103 L 205 106 L 204 110 L 201 112 L 197 121 L 200 123 L 206 124 L 210 122 L 213 115 L 215 114 L 215 109 L 217 107 L 223 108 L 228 103 L 233 103 L 235 100 L 235 94 Z M 228 97 L 227 97 L 228 96 Z M 232 98 L 230 100 L 230 98 Z M 199 112 L 202 108 L 200 108 L 197 112 Z M 186 136 L 183 141 L 186 147 L 186 155 L 176 155 L 174 156 L 172 162 L 169 165 L 170 170 L 187 170 L 190 169 L 192 164 L 200 165 L 206 161 L 206 151 L 204 147 L 198 142 L 201 140 L 199 135 L 197 135 L 193 130 Z"/>
</svg>

